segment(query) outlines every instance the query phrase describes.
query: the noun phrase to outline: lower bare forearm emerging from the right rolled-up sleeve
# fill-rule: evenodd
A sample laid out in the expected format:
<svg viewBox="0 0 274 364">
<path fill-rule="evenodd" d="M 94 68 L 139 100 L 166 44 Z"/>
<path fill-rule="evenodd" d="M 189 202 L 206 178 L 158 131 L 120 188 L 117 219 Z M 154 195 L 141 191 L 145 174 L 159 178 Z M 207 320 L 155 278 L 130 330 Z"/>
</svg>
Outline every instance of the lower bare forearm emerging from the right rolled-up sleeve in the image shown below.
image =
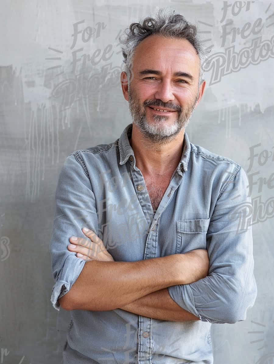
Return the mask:
<svg viewBox="0 0 274 364">
<path fill-rule="evenodd" d="M 122 310 L 138 315 L 167 321 L 199 320 L 191 312 L 181 308 L 168 293 L 167 288 L 147 294 L 122 307 Z"/>
</svg>

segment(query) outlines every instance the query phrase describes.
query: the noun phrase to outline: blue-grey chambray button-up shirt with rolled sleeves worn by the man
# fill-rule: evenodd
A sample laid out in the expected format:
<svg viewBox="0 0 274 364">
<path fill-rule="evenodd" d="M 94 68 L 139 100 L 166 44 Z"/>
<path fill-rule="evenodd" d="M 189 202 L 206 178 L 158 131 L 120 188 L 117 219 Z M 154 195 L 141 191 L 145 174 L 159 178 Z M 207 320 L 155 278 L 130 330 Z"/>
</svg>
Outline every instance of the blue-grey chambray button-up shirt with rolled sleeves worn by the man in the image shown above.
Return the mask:
<svg viewBox="0 0 274 364">
<path fill-rule="evenodd" d="M 131 131 L 129 124 L 115 142 L 65 159 L 49 249 L 51 302 L 59 310 L 58 298 L 86 263 L 67 249 L 71 236 L 86 238 L 86 226 L 115 261 L 207 249 L 207 277 L 168 287 L 171 298 L 200 319 L 158 320 L 119 308 L 71 310 L 63 363 L 211 364 L 211 324 L 245 320 L 257 296 L 246 173 L 231 159 L 190 143 L 184 132 L 182 158 L 154 214 Z"/>
</svg>

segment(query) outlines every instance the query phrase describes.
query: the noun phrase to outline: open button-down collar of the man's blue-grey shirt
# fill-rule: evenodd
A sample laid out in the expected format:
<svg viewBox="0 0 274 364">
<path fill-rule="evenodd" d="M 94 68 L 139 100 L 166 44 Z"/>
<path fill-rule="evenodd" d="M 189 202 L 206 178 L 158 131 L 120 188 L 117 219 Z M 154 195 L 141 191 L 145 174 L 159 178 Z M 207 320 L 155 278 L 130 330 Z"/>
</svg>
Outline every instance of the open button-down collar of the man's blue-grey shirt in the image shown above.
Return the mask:
<svg viewBox="0 0 274 364">
<path fill-rule="evenodd" d="M 135 157 L 134 157 L 134 151 L 131 148 L 129 139 L 131 138 L 131 132 L 132 132 L 132 123 L 128 124 L 126 126 L 119 138 L 118 146 L 120 151 L 120 165 L 123 165 L 128 161 L 128 158 L 130 158 L 130 162 L 133 164 L 133 167 L 135 168 Z M 179 172 L 181 169 L 184 169 L 187 171 L 187 164 L 190 157 L 190 142 L 188 139 L 188 135 L 186 131 L 184 132 L 184 143 L 183 143 L 183 153 L 182 158 L 178 164 L 177 171 Z"/>
</svg>

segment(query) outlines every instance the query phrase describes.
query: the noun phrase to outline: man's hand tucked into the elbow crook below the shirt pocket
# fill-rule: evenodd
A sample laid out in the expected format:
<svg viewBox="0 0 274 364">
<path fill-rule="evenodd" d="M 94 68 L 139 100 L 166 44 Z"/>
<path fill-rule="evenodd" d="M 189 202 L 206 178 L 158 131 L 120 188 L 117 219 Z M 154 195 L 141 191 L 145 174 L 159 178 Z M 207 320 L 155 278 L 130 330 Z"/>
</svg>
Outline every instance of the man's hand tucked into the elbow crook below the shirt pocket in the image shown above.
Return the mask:
<svg viewBox="0 0 274 364">
<path fill-rule="evenodd" d="M 209 274 L 209 254 L 207 249 L 194 249 L 182 254 L 183 283 L 190 284 Z"/>
</svg>

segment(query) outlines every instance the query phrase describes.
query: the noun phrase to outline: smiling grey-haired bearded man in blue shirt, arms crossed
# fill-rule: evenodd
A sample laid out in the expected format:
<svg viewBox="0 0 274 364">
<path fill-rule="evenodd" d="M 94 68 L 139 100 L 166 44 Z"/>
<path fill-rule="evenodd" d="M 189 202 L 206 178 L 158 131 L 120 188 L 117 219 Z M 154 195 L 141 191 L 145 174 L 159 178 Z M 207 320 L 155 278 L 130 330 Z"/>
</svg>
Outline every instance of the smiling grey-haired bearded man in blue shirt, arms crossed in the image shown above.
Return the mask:
<svg viewBox="0 0 274 364">
<path fill-rule="evenodd" d="M 211 324 L 245 320 L 257 296 L 248 179 L 184 131 L 206 84 L 195 26 L 160 9 L 123 44 L 132 124 L 71 153 L 56 189 L 63 363 L 211 364 Z"/>
</svg>

